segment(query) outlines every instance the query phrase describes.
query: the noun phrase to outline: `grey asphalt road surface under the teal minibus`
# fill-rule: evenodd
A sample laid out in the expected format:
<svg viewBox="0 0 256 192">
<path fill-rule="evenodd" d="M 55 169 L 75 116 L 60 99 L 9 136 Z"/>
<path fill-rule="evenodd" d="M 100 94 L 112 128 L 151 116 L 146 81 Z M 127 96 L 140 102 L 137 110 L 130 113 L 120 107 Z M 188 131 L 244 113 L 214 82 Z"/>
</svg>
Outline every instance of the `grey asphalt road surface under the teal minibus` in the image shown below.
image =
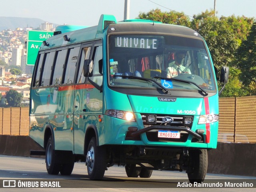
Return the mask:
<svg viewBox="0 0 256 192">
<path fill-rule="evenodd" d="M 9 182 L 10 181 L 10 182 Z M 23 188 L 10 188 L 3 186 L 16 186 Z M 188 186 L 188 177 L 185 172 L 153 171 L 150 178 L 128 178 L 123 166 L 113 166 L 105 172 L 104 179 L 93 181 L 88 178 L 85 163 L 75 163 L 70 176 L 49 175 L 46 171 L 45 160 L 42 158 L 26 158 L 18 156 L 0 155 L 0 191 L 256 191 L 256 177 L 207 174 L 204 183 L 215 187 L 202 188 Z M 219 188 L 227 185 L 228 188 Z M 233 188 L 231 185 L 252 186 L 245 188 Z M 39 188 L 31 188 L 30 186 Z M 40 186 L 50 188 L 40 188 Z M 60 186 L 60 188 L 59 188 Z M 177 187 L 178 186 L 178 187 Z M 89 188 L 89 189 L 86 189 Z"/>
</svg>

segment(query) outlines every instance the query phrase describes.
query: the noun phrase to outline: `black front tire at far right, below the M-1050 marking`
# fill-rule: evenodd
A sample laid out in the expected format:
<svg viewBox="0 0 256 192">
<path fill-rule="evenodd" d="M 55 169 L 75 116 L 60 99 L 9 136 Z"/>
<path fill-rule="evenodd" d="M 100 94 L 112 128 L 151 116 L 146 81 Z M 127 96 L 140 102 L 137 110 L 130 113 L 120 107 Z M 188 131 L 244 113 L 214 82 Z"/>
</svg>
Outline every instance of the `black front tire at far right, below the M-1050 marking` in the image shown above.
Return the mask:
<svg viewBox="0 0 256 192">
<path fill-rule="evenodd" d="M 190 183 L 203 182 L 208 166 L 206 149 L 189 151 L 188 180 Z"/>
</svg>

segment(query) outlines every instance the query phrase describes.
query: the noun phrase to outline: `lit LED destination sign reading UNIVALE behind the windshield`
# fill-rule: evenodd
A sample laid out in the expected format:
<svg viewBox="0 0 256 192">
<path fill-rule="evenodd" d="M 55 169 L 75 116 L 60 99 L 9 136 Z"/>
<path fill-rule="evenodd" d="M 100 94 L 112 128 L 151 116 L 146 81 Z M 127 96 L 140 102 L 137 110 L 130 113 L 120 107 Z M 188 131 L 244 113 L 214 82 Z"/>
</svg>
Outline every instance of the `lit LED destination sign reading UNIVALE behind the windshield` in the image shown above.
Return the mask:
<svg viewBox="0 0 256 192">
<path fill-rule="evenodd" d="M 159 47 L 159 39 L 122 36 L 115 38 L 115 46 L 126 48 L 157 49 Z"/>
</svg>

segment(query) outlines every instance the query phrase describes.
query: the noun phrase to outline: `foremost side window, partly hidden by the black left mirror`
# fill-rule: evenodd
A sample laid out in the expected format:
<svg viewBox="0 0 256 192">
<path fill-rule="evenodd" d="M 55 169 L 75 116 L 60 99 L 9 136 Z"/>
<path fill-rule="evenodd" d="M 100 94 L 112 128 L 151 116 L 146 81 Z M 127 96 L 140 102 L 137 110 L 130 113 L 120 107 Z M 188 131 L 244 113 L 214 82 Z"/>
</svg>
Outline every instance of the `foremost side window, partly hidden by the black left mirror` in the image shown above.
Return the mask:
<svg viewBox="0 0 256 192">
<path fill-rule="evenodd" d="M 99 66 L 101 69 L 99 70 Z M 93 54 L 93 71 L 92 71 L 92 77 L 90 77 L 90 80 L 92 80 L 94 83 L 98 84 L 99 86 L 102 85 L 102 46 L 97 46 L 94 48 L 94 54 Z"/>
</svg>

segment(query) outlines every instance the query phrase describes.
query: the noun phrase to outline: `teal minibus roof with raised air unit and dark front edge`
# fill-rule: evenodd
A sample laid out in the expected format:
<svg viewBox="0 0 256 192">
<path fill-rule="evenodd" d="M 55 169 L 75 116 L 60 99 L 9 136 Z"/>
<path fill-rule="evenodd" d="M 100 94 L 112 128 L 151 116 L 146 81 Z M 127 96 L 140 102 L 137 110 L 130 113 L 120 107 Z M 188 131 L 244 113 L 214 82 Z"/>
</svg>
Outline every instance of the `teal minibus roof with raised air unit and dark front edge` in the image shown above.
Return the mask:
<svg viewBox="0 0 256 192">
<path fill-rule="evenodd" d="M 131 23 L 132 27 L 130 25 Z M 132 19 L 117 22 L 114 16 L 102 14 L 97 26 L 58 26 L 54 36 L 43 42 L 43 44 L 40 46 L 40 50 L 103 38 L 105 35 L 104 32 L 106 32 L 106 28 L 108 28 L 108 26 L 118 28 L 118 30 L 115 32 L 138 32 L 140 34 L 143 32 L 155 32 L 166 34 L 181 34 L 193 37 L 197 36 L 202 38 L 194 30 L 184 26 L 163 24 L 162 22 L 142 19 Z"/>
</svg>

